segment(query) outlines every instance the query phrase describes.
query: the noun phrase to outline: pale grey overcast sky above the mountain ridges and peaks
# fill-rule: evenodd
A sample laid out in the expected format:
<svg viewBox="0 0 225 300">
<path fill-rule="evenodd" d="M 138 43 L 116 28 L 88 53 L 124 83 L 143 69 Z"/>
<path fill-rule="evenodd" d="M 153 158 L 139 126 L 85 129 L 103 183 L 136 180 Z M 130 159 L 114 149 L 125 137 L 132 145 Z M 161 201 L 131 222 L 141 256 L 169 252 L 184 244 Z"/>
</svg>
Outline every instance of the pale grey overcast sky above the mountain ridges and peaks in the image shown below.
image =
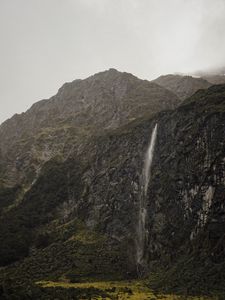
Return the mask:
<svg viewBox="0 0 225 300">
<path fill-rule="evenodd" d="M 225 0 L 0 0 L 0 123 L 67 81 L 225 65 Z"/>
</svg>

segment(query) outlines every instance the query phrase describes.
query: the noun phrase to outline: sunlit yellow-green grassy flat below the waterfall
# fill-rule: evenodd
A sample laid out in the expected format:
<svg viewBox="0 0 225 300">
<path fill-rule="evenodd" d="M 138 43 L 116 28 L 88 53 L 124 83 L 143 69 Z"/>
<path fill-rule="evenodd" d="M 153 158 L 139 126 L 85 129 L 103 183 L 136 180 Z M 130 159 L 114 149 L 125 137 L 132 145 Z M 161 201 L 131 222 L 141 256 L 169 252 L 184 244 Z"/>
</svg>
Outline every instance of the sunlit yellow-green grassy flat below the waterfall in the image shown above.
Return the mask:
<svg viewBox="0 0 225 300">
<path fill-rule="evenodd" d="M 57 289 L 70 289 L 80 294 L 80 299 L 96 300 L 217 300 L 217 297 L 190 297 L 170 294 L 158 294 L 150 290 L 141 281 L 107 281 L 91 283 L 67 283 L 53 281 L 39 281 L 37 285 L 55 291 Z"/>
</svg>

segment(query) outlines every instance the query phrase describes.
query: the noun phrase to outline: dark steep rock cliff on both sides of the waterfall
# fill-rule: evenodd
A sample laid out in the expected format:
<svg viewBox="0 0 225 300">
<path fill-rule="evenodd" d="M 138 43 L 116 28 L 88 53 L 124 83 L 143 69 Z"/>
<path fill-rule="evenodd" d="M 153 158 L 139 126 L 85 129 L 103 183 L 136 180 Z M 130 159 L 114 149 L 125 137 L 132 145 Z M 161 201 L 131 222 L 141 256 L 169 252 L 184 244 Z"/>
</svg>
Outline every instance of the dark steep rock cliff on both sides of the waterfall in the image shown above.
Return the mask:
<svg viewBox="0 0 225 300">
<path fill-rule="evenodd" d="M 219 255 L 223 257 L 224 92 L 224 86 L 199 91 L 175 111 L 161 113 L 97 142 L 97 161 L 84 175 L 89 191 L 85 219 L 89 226 L 100 223 L 103 231 L 117 240 L 129 239 L 133 260 L 142 170 L 156 123 L 147 194 L 146 259 L 150 265 L 159 260 L 168 263 L 183 247 L 192 249 L 193 241 L 200 236 L 207 240 L 208 255 L 218 259 L 214 252 L 220 244 Z"/>
</svg>

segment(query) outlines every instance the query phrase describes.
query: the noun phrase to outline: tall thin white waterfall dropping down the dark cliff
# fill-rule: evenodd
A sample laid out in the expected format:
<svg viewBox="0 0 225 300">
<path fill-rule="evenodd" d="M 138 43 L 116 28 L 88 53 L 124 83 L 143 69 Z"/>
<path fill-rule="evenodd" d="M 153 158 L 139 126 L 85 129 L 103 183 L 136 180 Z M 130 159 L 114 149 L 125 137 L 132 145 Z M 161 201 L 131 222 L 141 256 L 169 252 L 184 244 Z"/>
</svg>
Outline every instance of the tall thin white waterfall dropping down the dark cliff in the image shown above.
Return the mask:
<svg viewBox="0 0 225 300">
<path fill-rule="evenodd" d="M 156 143 L 157 137 L 157 123 L 152 131 L 150 144 L 148 146 L 145 161 L 144 161 L 144 168 L 141 180 L 141 194 L 140 194 L 140 201 L 139 201 L 139 219 L 138 219 L 138 230 L 137 230 L 137 266 L 144 265 L 144 250 L 146 245 L 146 239 L 148 235 L 148 231 L 146 229 L 146 218 L 147 218 L 147 203 L 146 197 L 148 192 L 148 185 L 151 177 L 151 166 L 153 161 L 153 154 L 154 148 Z"/>
</svg>

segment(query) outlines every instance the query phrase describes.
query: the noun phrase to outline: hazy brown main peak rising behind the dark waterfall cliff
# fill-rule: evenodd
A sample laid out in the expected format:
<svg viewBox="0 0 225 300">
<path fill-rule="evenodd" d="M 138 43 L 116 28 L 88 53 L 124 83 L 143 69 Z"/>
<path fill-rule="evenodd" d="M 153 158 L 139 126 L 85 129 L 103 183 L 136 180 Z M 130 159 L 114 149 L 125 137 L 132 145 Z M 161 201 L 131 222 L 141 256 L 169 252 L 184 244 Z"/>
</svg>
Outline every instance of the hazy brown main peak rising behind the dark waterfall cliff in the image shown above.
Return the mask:
<svg viewBox="0 0 225 300">
<path fill-rule="evenodd" d="M 65 159 L 89 137 L 178 104 L 165 88 L 115 69 L 66 83 L 0 126 L 0 178 L 29 186 L 52 157 Z"/>
</svg>

